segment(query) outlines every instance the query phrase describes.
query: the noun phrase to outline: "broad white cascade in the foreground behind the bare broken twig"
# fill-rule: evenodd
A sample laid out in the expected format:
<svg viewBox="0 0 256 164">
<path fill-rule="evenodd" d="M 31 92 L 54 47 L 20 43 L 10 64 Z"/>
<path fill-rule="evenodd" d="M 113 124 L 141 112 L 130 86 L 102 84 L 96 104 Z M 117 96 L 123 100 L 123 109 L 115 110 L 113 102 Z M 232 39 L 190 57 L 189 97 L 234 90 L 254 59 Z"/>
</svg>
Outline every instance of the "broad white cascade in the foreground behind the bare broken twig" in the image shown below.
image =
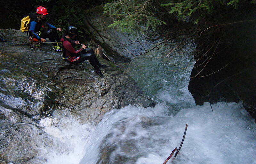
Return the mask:
<svg viewBox="0 0 256 164">
<path fill-rule="evenodd" d="M 107 147 L 102 153 L 111 153 L 107 163 L 163 163 L 179 147 L 186 124 L 187 134 L 173 163 L 255 163 L 256 126 L 248 113 L 237 103 L 217 103 L 213 108 L 214 112 L 205 103 L 175 117 L 167 115 L 163 104 L 111 111 L 96 128 L 97 139 L 88 142 L 80 163 L 96 163 L 99 146 Z"/>
</svg>

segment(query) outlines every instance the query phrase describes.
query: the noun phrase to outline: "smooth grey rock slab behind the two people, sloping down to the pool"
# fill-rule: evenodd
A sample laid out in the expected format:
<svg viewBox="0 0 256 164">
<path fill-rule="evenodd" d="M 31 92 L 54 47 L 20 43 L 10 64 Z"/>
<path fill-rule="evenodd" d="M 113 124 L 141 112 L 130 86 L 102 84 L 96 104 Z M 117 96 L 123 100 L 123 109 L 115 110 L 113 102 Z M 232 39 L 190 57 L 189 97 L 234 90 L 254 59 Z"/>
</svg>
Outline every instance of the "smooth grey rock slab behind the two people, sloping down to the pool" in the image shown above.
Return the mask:
<svg viewBox="0 0 256 164">
<path fill-rule="evenodd" d="M 109 14 L 103 14 L 103 5 L 84 11 L 84 25 L 90 38 L 104 48 L 109 58 L 114 61 L 128 61 L 133 59 L 135 54 L 144 53 L 145 49 L 149 48 L 149 45 L 144 43 L 145 38 L 132 39 L 130 35 L 132 41 L 143 40 L 140 43 L 131 42 L 127 33 L 109 28 L 108 25 L 114 20 Z"/>
</svg>

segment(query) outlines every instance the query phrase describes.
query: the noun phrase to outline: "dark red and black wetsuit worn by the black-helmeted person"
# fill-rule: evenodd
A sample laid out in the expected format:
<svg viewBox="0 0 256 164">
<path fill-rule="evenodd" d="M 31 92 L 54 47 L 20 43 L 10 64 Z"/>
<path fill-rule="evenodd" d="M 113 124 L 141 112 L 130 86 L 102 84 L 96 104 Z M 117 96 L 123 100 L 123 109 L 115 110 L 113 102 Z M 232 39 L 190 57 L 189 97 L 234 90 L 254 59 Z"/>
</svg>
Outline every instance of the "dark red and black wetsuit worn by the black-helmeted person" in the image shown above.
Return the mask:
<svg viewBox="0 0 256 164">
<path fill-rule="evenodd" d="M 63 59 L 71 64 L 78 64 L 87 59 L 92 64 L 94 69 L 99 69 L 100 62 L 96 58 L 94 51 L 91 48 L 75 49 L 75 43 L 72 39 L 66 38 L 65 35 L 60 39 L 62 42 Z"/>
</svg>

